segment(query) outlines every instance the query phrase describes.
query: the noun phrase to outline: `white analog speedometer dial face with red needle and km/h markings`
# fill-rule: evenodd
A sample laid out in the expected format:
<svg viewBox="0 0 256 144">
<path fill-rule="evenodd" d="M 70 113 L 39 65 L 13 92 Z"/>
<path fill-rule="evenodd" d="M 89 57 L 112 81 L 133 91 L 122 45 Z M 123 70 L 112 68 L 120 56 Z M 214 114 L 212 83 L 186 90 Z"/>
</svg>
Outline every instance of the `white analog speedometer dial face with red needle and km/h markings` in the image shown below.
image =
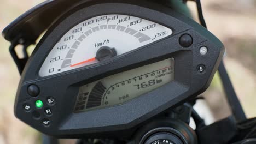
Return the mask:
<svg viewBox="0 0 256 144">
<path fill-rule="evenodd" d="M 104 62 L 171 34 L 170 28 L 139 17 L 93 17 L 63 35 L 46 57 L 39 75 L 49 76 Z"/>
</svg>

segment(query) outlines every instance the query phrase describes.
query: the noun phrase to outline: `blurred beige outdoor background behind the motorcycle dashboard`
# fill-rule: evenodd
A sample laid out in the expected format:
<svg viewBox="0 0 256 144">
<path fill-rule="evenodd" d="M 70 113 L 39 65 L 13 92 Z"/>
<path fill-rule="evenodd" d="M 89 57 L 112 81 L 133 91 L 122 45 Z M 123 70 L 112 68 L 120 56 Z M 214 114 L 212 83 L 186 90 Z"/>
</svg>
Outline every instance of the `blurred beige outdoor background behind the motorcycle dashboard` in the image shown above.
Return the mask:
<svg viewBox="0 0 256 144">
<path fill-rule="evenodd" d="M 0 31 L 11 21 L 42 0 L 0 0 Z M 194 17 L 196 7 L 188 3 Z M 256 1 L 205 0 L 203 13 L 208 29 L 225 45 L 224 62 L 237 95 L 248 117 L 256 117 Z M 0 144 L 39 143 L 40 134 L 14 117 L 13 105 L 20 79 L 8 51 L 8 41 L 0 38 Z M 30 47 L 30 52 L 33 46 Z M 202 94 L 210 105 L 214 119 L 230 115 L 219 76 Z M 71 141 L 62 141 L 71 143 Z"/>
</svg>

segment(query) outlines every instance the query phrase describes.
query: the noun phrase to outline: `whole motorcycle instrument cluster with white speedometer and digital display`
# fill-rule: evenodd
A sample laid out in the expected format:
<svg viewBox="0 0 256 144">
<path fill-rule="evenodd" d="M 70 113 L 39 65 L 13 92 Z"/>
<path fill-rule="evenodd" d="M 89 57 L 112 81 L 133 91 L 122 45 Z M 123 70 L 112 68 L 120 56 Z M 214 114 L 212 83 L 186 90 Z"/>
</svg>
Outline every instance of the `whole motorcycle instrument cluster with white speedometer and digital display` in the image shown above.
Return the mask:
<svg viewBox="0 0 256 144">
<path fill-rule="evenodd" d="M 205 91 L 222 43 L 188 17 L 158 8 L 86 2 L 61 16 L 26 64 L 16 117 L 56 137 L 125 137 Z"/>
</svg>

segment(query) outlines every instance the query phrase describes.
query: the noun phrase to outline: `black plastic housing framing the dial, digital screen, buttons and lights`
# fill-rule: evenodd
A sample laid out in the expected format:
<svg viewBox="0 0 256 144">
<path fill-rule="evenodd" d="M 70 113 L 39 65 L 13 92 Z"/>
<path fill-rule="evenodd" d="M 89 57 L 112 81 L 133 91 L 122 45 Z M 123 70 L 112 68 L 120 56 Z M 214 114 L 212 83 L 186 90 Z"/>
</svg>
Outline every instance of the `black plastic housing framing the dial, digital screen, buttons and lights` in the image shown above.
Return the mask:
<svg viewBox="0 0 256 144">
<path fill-rule="evenodd" d="M 46 77 L 38 75 L 44 59 L 63 34 L 84 20 L 107 14 L 141 17 L 171 28 L 173 34 L 108 63 Z M 191 46 L 181 46 L 179 39 L 183 34 L 193 38 Z M 208 48 L 206 55 L 199 52 L 202 46 Z M 15 100 L 15 116 L 42 133 L 55 137 L 130 137 L 138 125 L 204 92 L 218 69 L 223 53 L 223 44 L 207 29 L 163 5 L 136 1 L 86 2 L 57 20 L 37 44 L 22 73 Z M 175 59 L 174 81 L 121 105 L 73 112 L 80 86 L 171 57 Z M 203 73 L 197 71 L 199 65 L 205 66 Z M 36 97 L 28 94 L 31 85 L 39 88 Z M 49 97 L 55 100 L 54 104 L 47 103 Z M 43 101 L 42 109 L 34 106 L 36 100 Z M 25 105 L 31 109 L 26 111 Z M 45 109 L 50 109 L 51 115 L 45 115 Z M 40 116 L 35 118 L 34 113 Z M 42 123 L 44 119 L 50 124 L 45 126 Z"/>
</svg>

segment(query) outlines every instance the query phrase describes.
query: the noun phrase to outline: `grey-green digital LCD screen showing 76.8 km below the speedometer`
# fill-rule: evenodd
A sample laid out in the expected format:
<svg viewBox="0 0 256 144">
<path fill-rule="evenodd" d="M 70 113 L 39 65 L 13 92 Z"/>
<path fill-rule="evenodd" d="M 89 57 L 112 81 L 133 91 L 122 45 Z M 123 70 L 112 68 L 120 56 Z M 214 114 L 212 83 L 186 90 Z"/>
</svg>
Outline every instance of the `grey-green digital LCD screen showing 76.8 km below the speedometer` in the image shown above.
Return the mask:
<svg viewBox="0 0 256 144">
<path fill-rule="evenodd" d="M 74 112 L 125 103 L 174 80 L 174 59 L 105 77 L 79 88 Z"/>
</svg>

